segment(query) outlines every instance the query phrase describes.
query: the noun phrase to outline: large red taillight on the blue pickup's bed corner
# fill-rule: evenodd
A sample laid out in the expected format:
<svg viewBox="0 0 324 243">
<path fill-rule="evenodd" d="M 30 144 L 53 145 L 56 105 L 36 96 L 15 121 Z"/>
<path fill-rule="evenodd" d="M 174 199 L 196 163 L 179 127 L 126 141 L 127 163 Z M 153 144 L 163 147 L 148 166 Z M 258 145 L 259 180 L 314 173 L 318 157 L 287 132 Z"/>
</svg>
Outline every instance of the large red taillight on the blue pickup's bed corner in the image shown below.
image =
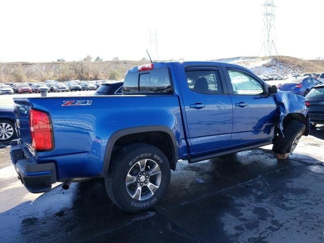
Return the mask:
<svg viewBox="0 0 324 243">
<path fill-rule="evenodd" d="M 44 151 L 54 147 L 52 122 L 47 113 L 30 109 L 29 129 L 31 146 L 35 150 Z"/>
</svg>

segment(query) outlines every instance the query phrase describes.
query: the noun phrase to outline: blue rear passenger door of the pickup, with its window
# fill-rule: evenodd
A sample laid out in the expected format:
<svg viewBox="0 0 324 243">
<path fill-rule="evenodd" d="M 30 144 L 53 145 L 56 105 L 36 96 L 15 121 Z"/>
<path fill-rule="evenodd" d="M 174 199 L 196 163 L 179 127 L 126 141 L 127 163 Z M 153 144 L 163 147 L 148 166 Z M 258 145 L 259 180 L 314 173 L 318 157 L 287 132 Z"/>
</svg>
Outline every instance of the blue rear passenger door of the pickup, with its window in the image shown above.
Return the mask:
<svg viewBox="0 0 324 243">
<path fill-rule="evenodd" d="M 191 154 L 230 145 L 232 101 L 217 65 L 177 65 Z"/>
</svg>

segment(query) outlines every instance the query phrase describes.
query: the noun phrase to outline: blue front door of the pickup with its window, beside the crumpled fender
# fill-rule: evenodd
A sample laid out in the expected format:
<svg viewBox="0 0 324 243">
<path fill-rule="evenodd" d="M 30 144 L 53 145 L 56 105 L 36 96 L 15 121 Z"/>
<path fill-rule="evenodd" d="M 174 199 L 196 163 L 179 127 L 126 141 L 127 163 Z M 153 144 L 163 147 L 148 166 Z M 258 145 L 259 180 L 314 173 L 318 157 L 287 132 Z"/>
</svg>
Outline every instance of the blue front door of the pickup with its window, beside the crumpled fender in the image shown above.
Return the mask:
<svg viewBox="0 0 324 243">
<path fill-rule="evenodd" d="M 267 95 L 266 85 L 244 69 L 224 66 L 223 71 L 233 102 L 231 145 L 252 144 L 271 139 L 276 104 L 273 95 Z"/>
</svg>

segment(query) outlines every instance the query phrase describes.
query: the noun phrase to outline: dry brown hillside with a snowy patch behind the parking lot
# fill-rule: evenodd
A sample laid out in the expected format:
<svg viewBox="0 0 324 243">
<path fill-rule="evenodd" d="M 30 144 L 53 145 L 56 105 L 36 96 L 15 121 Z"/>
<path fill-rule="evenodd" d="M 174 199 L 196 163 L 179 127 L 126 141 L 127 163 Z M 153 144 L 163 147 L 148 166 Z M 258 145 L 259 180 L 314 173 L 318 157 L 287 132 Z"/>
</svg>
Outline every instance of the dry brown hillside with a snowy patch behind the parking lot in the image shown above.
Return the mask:
<svg viewBox="0 0 324 243">
<path fill-rule="evenodd" d="M 287 56 L 235 57 L 212 61 L 237 64 L 257 75 L 324 72 L 324 60 L 303 60 Z M 128 69 L 143 61 L 10 62 L 0 63 L 0 82 L 44 82 L 57 80 L 123 79 Z"/>
</svg>

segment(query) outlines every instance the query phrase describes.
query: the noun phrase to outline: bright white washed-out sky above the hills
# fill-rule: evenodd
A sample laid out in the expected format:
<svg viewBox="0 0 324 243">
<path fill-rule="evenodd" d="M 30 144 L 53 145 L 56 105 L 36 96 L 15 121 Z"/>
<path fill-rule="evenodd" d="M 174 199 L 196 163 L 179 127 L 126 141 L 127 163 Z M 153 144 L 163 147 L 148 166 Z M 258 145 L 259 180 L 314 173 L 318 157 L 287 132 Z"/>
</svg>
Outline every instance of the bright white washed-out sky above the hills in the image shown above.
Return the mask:
<svg viewBox="0 0 324 243">
<path fill-rule="evenodd" d="M 139 60 L 157 28 L 159 59 L 258 56 L 262 0 L 2 1 L 0 61 L 67 61 L 86 55 Z M 279 55 L 324 57 L 324 1 L 276 1 Z M 261 56 L 262 56 L 261 52 Z"/>
</svg>

